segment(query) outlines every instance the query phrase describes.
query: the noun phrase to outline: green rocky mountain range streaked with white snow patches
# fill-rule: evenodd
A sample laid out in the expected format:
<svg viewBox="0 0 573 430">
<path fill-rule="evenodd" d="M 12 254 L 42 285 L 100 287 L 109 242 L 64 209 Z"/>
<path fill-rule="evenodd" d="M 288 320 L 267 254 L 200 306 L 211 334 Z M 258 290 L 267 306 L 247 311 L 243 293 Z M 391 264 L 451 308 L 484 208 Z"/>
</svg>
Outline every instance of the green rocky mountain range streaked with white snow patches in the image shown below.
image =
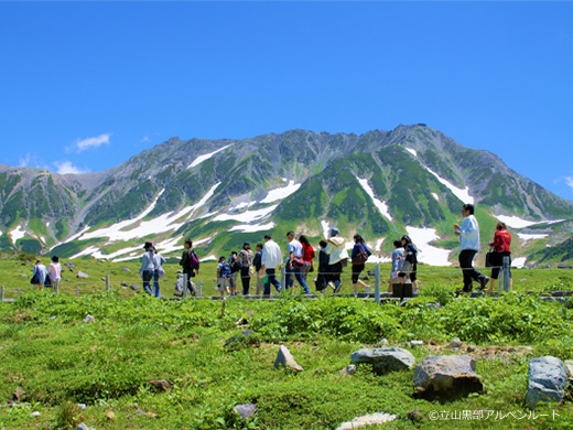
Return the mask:
<svg viewBox="0 0 573 430">
<path fill-rule="evenodd" d="M 420 261 L 443 266 L 455 261 L 452 223 L 464 203 L 476 205 L 484 246 L 498 219 L 508 224 L 517 265 L 571 237 L 573 202 L 419 123 L 360 136 L 171 138 L 87 174 L 0 165 L 0 249 L 127 260 L 145 240 L 179 255 L 191 237 L 208 259 L 269 232 L 278 243 L 294 230 L 317 244 L 336 226 L 348 241 L 361 234 L 371 261 L 409 234 Z"/>
</svg>

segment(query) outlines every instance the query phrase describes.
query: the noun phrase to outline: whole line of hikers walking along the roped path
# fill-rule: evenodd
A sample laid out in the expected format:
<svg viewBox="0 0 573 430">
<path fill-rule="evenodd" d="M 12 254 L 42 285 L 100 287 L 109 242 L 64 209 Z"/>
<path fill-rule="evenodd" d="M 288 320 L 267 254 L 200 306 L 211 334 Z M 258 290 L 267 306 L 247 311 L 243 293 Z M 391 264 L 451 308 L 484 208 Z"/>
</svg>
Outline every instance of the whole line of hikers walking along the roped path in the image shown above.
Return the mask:
<svg viewBox="0 0 573 430">
<path fill-rule="evenodd" d="M 464 286 L 457 293 L 468 293 L 473 290 L 473 281 L 479 283 L 479 291 L 493 291 L 495 281 L 499 277 L 504 257 L 511 257 L 511 235 L 507 232 L 507 226 L 499 222 L 496 226 L 491 247 L 490 266 L 491 275 L 486 277 L 473 267 L 475 255 L 479 251 L 479 226 L 474 215 L 474 206 L 465 204 L 462 208 L 462 225 L 454 224 L 454 234 L 460 237 L 461 252 L 458 257 L 460 267 L 463 272 Z M 358 294 L 358 287 L 369 291 L 369 286 L 360 280 L 360 273 L 365 270 L 365 264 L 371 256 L 371 251 L 365 244 L 363 236 L 354 235 L 354 246 L 352 254 L 348 255 L 346 239 L 340 236 L 338 228 L 331 228 L 328 239 L 318 243 L 320 250 L 316 254 L 313 246 L 304 235 L 295 236 L 293 232 L 286 234 L 288 255 L 284 261 L 281 247 L 272 239 L 271 234 L 264 235 L 264 243 L 258 243 L 255 251 L 250 248 L 250 243 L 242 244 L 239 252 L 230 252 L 229 258 L 219 257 L 217 265 L 217 289 L 221 295 L 236 295 L 239 288 L 239 278 L 242 287 L 242 295 L 250 294 L 250 282 L 256 280 L 256 294 L 270 295 L 271 286 L 280 292 L 282 289 L 290 289 L 296 281 L 304 293 L 310 294 L 307 283 L 310 272 L 313 277 L 314 287 L 320 293 L 325 293 L 332 288 L 334 293 L 340 291 L 340 275 L 347 266 L 352 267 L 352 283 L 354 295 Z M 413 293 L 419 291 L 417 271 L 419 250 L 408 235 L 393 240 L 392 267 L 388 278 L 388 291 L 392 291 L 394 283 L 412 283 Z M 151 241 L 145 241 L 144 254 L 141 258 L 140 275 L 142 277 L 143 290 L 156 298 L 160 298 L 159 280 L 165 276 L 163 265 L 165 258 L 156 250 Z M 315 267 L 315 259 L 317 265 Z M 281 286 L 278 272 L 284 264 L 285 284 Z M 193 241 L 185 239 L 184 250 L 180 261 L 182 270 L 177 276 L 175 289 L 182 293 L 186 288 L 191 294 L 197 294 L 197 289 L 193 278 L 199 273 L 199 259 L 193 250 Z M 52 262 L 46 268 L 41 260 L 34 267 L 31 282 L 40 289 L 44 286 L 54 286 L 61 280 L 62 266 L 58 257 L 52 257 Z M 511 277 L 511 273 L 509 273 Z M 183 279 L 187 280 L 186 287 Z M 510 278 L 511 284 L 511 278 Z M 489 286 L 489 288 L 487 288 Z M 486 289 L 487 288 L 487 289 Z"/>
</svg>

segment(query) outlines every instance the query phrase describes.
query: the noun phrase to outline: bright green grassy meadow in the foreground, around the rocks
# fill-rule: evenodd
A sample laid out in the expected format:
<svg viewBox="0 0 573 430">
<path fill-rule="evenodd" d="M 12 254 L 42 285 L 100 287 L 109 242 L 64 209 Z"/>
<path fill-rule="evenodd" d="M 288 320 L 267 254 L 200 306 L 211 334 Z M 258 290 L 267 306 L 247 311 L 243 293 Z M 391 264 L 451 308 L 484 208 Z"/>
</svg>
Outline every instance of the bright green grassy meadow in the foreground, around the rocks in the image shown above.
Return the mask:
<svg viewBox="0 0 573 430">
<path fill-rule="evenodd" d="M 85 264 L 90 272 L 97 266 L 109 269 Z M 22 291 L 14 303 L 0 304 L 0 428 L 75 429 L 85 422 L 95 429 L 333 429 L 377 411 L 398 419 L 371 429 L 572 428 L 569 397 L 536 413 L 523 407 L 529 359 L 573 358 L 571 302 L 519 292 L 500 300 L 453 300 L 460 275 L 444 280 L 453 271 L 436 272 L 443 282 L 425 280 L 422 295 L 404 307 L 285 293 L 273 302 L 229 299 L 224 315 L 221 302 L 161 301 L 132 291 L 126 300 L 120 289 L 83 298 Z M 573 287 L 563 272 L 522 273 L 515 272 L 516 280 L 534 279 L 534 286 L 516 282 L 522 284 L 518 290 Z M 441 308 L 428 307 L 436 300 Z M 83 323 L 87 314 L 95 322 Z M 241 316 L 255 335 L 225 347 L 245 330 L 236 326 Z M 352 377 L 339 374 L 354 351 L 381 337 L 390 345 L 424 341 L 411 350 L 420 362 L 429 354 L 465 353 L 465 346 L 445 347 L 455 336 L 476 347 L 471 354 L 482 395 L 441 405 L 411 397 L 413 369 L 374 376 L 359 367 Z M 281 344 L 304 372 L 273 369 Z M 165 379 L 170 388 L 156 389 L 149 383 L 154 379 Z M 258 412 L 242 422 L 233 408 L 246 402 L 257 404 Z M 408 412 L 415 409 L 420 419 L 412 421 Z M 31 417 L 34 411 L 40 416 Z M 453 418 L 478 411 L 480 419 Z M 430 419 L 436 412 L 439 422 Z"/>
</svg>

